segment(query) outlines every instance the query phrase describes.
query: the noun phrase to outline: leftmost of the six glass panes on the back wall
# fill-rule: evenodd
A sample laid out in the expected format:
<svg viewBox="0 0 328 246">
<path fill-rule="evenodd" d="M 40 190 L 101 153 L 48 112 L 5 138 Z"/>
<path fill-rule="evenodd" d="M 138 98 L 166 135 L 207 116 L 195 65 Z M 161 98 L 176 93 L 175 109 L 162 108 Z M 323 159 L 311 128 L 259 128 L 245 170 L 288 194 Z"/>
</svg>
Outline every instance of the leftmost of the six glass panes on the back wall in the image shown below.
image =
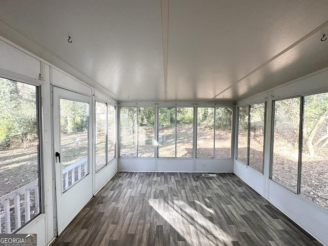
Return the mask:
<svg viewBox="0 0 328 246">
<path fill-rule="evenodd" d="M 120 156 L 137 156 L 137 108 L 120 109 Z"/>
</svg>

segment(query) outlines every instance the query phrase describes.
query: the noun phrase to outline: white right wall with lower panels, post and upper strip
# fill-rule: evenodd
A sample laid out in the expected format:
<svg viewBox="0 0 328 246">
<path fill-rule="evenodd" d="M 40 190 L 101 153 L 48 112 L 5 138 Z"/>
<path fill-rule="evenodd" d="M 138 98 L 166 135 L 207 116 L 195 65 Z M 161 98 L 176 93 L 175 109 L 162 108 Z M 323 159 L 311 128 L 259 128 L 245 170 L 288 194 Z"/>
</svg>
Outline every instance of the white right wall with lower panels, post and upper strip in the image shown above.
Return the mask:
<svg viewBox="0 0 328 246">
<path fill-rule="evenodd" d="M 237 105 L 254 104 L 267 101 L 267 125 L 265 131 L 264 174 L 234 160 L 234 173 L 254 188 L 274 206 L 294 220 L 305 231 L 309 232 L 322 243 L 328 245 L 328 211 L 310 200 L 296 195 L 278 183 L 269 179 L 271 115 L 274 99 L 297 96 L 300 94 L 320 93 L 328 91 L 328 69 L 291 81 L 251 98 L 239 101 Z"/>
</svg>

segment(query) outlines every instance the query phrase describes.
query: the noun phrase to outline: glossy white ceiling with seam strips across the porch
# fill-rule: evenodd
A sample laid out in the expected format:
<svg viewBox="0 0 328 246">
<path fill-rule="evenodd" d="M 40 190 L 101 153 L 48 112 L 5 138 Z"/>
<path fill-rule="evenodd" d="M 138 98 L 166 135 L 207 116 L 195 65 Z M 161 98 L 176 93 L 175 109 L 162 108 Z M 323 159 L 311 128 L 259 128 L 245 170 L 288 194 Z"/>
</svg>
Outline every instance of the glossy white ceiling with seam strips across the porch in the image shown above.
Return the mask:
<svg viewBox="0 0 328 246">
<path fill-rule="evenodd" d="M 328 67 L 327 0 L 0 5 L 1 36 L 118 101 L 238 101 Z"/>
</svg>

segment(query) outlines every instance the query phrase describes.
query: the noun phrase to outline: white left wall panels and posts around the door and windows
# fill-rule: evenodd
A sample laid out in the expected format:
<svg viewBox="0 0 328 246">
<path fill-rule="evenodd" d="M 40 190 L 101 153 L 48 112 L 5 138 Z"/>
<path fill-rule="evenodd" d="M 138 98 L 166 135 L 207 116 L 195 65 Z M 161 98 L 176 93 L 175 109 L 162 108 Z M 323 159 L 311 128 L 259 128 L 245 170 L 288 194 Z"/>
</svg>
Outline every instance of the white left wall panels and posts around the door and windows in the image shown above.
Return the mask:
<svg viewBox="0 0 328 246">
<path fill-rule="evenodd" d="M 40 143 L 43 150 L 41 162 L 44 180 L 44 209 L 42 214 L 19 230 L 18 233 L 37 234 L 37 245 L 44 246 L 53 240 L 56 223 L 54 220 L 51 86 L 93 96 L 94 99 L 104 100 L 111 105 L 116 105 L 116 102 L 2 37 L 0 37 L 0 54 L 1 77 L 40 86 L 41 88 L 40 103 L 42 107 L 40 107 L 40 110 L 42 122 L 40 125 L 42 133 Z M 91 112 L 93 113 L 92 109 Z M 94 172 L 95 164 L 91 169 L 93 170 L 93 191 L 95 194 L 117 172 L 117 159 L 111 160 L 105 168 L 97 173 Z"/>
</svg>

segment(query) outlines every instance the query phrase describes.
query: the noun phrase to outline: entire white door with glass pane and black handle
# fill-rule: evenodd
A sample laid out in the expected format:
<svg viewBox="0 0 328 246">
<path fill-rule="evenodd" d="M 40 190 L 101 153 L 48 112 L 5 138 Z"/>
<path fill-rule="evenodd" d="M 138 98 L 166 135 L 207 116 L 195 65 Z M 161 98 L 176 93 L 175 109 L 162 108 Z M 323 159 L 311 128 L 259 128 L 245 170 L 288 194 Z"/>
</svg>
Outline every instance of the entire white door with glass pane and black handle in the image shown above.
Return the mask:
<svg viewBox="0 0 328 246">
<path fill-rule="evenodd" d="M 92 97 L 53 87 L 57 234 L 92 198 Z"/>
</svg>

